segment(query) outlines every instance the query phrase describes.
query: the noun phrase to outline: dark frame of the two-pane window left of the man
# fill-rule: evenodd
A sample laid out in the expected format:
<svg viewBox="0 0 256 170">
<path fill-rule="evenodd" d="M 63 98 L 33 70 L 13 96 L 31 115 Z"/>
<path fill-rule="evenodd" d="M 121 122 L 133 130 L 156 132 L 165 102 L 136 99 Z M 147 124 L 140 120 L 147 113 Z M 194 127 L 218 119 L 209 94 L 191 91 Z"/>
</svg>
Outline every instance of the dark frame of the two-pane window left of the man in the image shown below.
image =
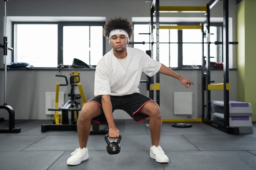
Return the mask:
<svg viewBox="0 0 256 170">
<path fill-rule="evenodd" d="M 102 26 L 104 27 L 105 22 L 101 21 L 97 21 L 97 22 L 12 22 L 12 46 L 14 46 L 15 43 L 15 24 L 57 24 L 58 25 L 58 47 L 57 47 L 57 66 L 58 67 L 59 64 L 63 64 L 63 27 L 64 26 Z M 102 30 L 103 31 L 103 30 Z M 90 33 L 89 33 L 90 34 Z M 90 35 L 89 35 L 90 36 Z M 90 38 L 89 38 L 90 39 Z M 106 38 L 104 37 L 104 35 L 102 36 L 102 54 L 104 55 L 106 53 Z M 12 53 L 11 55 L 11 61 L 15 62 L 14 60 L 14 53 Z M 89 56 L 90 57 L 90 56 Z M 88 65 L 90 65 L 90 63 L 88 63 Z M 96 65 L 92 65 L 93 67 Z M 36 68 L 55 68 L 55 67 L 36 67 Z"/>
</svg>

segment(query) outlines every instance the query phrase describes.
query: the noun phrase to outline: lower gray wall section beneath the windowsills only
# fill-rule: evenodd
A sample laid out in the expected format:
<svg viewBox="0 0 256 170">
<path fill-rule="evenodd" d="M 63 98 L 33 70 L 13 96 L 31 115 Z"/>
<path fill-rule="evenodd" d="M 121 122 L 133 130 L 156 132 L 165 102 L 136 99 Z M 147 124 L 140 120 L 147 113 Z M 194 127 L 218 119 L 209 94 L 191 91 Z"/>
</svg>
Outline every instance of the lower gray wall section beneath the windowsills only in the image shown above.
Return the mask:
<svg viewBox="0 0 256 170">
<path fill-rule="evenodd" d="M 63 78 L 55 77 L 56 74 L 62 74 L 69 77 L 72 70 L 62 71 L 61 73 L 56 71 L 42 71 L 42 70 L 10 70 L 8 71 L 7 81 L 7 104 L 12 106 L 16 112 L 16 119 L 49 119 L 51 116 L 45 115 L 45 92 L 54 92 L 56 90 L 56 82 L 63 83 Z M 195 86 L 187 89 L 177 79 L 168 77 L 166 75 L 160 75 L 160 108 L 162 110 L 163 119 L 185 119 L 186 116 L 173 115 L 173 93 L 174 92 L 193 92 L 193 115 L 192 119 L 197 119 L 201 116 L 202 99 L 201 99 L 201 71 L 176 71 L 177 73 L 188 77 Z M 94 90 L 94 70 L 80 70 L 81 84 L 85 93 L 86 100 L 93 97 Z M 0 76 L 3 77 L 1 71 Z M 142 76 L 144 79 L 145 75 Z M 236 71 L 230 71 L 230 100 L 236 100 Z M 222 71 L 211 71 L 211 79 L 216 83 L 223 82 Z M 0 86 L 3 87 L 3 81 Z M 148 95 L 146 91 L 146 84 L 141 83 L 139 86 L 140 92 L 144 95 Z M 60 91 L 67 94 L 70 93 L 70 85 L 61 86 Z M 77 91 L 77 89 L 76 89 Z M 2 93 L 1 93 L 2 94 Z M 1 95 L 2 96 L 2 95 Z M 214 100 L 223 99 L 222 91 L 213 91 L 211 98 Z M 3 96 L 1 98 L 3 103 Z M 185 105 L 185 103 L 184 103 Z M 4 110 L 0 110 L 0 117 L 7 117 L 7 113 Z M 129 118 L 122 111 L 114 113 L 115 118 L 123 119 Z"/>
</svg>

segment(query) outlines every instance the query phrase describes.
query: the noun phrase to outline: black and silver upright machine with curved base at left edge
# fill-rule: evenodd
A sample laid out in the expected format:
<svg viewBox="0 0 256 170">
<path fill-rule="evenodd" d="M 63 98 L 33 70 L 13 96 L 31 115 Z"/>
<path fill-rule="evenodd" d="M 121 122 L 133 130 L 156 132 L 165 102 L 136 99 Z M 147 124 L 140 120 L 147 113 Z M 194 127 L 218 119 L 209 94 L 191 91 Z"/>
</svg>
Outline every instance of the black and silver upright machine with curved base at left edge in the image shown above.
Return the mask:
<svg viewBox="0 0 256 170">
<path fill-rule="evenodd" d="M 13 48 L 7 46 L 7 0 L 4 0 L 4 44 L 0 44 L 0 47 L 4 49 L 4 104 L 0 106 L 0 109 L 5 109 L 9 113 L 9 129 L 0 129 L 0 133 L 19 133 L 20 128 L 15 128 L 15 113 L 11 106 L 6 103 L 6 87 L 7 87 L 7 50 L 13 50 Z M 4 121 L 4 118 L 0 118 L 0 121 Z"/>
</svg>

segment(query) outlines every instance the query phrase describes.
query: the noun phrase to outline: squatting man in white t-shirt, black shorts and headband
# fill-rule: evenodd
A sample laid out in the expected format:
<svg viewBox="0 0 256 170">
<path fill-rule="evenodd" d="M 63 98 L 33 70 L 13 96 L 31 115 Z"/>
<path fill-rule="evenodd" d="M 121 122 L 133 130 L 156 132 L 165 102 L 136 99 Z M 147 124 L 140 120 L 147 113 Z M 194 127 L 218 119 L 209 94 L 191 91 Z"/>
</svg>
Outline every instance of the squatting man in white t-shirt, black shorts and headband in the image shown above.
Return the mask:
<svg viewBox="0 0 256 170">
<path fill-rule="evenodd" d="M 112 112 L 125 110 L 135 121 L 149 118 L 152 146 L 150 157 L 159 163 L 169 159 L 159 146 L 162 117 L 158 104 L 139 93 L 141 73 L 153 76 L 157 72 L 174 77 L 187 88 L 193 84 L 189 79 L 175 73 L 170 68 L 152 59 L 144 51 L 127 47 L 132 37 L 132 24 L 124 18 L 110 19 L 104 26 L 104 36 L 108 38 L 112 50 L 99 60 L 94 79 L 94 95 L 81 109 L 77 122 L 80 148 L 71 153 L 68 165 L 78 165 L 89 158 L 87 141 L 91 120 L 108 123 L 109 137 L 117 139 L 119 130 L 115 126 Z"/>
</svg>

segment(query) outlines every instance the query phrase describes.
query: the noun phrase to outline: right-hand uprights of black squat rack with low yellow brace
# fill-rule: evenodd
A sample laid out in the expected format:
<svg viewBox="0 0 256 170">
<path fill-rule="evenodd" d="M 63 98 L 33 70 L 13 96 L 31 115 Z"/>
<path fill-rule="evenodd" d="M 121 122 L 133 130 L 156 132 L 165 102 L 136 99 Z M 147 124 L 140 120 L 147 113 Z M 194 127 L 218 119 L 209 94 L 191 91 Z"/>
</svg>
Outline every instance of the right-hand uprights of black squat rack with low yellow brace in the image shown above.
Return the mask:
<svg viewBox="0 0 256 170">
<path fill-rule="evenodd" d="M 210 9 L 219 0 L 211 0 L 207 4 L 207 20 L 206 20 L 206 32 L 203 34 L 206 36 L 209 42 L 210 35 Z M 202 66 L 202 122 L 217 128 L 223 132 L 232 135 L 239 135 L 238 127 L 229 126 L 229 44 L 237 44 L 229 42 L 229 2 L 228 0 L 222 0 L 223 4 L 223 28 L 222 28 L 222 54 L 223 54 L 223 84 L 211 84 L 211 68 L 210 68 L 210 44 L 207 45 L 207 56 L 206 56 L 206 72 Z M 203 48 L 204 50 L 204 48 Z M 204 63 L 204 55 L 202 57 L 202 64 Z M 211 90 L 223 90 L 224 97 L 224 122 L 223 124 L 211 120 Z M 204 104 L 204 94 L 206 91 L 206 105 Z M 207 108 L 207 115 L 204 113 L 204 108 Z"/>
</svg>

